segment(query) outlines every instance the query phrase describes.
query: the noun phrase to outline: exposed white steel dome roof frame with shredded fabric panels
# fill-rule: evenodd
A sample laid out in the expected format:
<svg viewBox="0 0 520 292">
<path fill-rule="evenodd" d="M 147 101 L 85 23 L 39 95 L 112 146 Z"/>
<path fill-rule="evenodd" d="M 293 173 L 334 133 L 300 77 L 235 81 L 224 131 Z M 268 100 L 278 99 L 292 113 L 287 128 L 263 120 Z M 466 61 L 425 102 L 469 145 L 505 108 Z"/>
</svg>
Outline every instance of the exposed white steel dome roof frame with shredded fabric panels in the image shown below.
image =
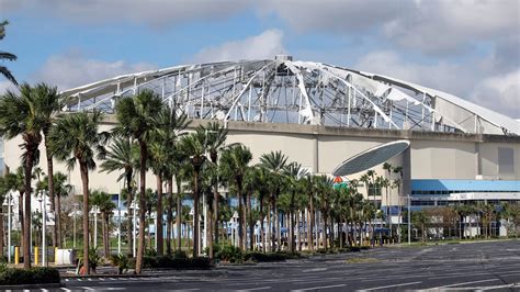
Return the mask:
<svg viewBox="0 0 520 292">
<path fill-rule="evenodd" d="M 112 113 L 143 89 L 191 119 L 520 134 L 520 123 L 451 94 L 321 63 L 238 60 L 118 76 L 61 92 L 64 111 Z"/>
</svg>

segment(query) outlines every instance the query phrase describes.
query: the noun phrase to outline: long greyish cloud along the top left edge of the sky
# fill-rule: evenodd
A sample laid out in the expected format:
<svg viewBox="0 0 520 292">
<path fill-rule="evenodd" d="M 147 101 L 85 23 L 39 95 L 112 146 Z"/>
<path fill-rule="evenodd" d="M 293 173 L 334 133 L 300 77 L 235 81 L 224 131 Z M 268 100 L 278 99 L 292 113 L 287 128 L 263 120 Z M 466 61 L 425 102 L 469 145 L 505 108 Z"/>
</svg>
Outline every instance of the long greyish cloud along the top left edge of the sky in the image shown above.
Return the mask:
<svg viewBox="0 0 520 292">
<path fill-rule="evenodd" d="M 248 3 L 249 0 L 0 0 L 0 8 L 7 12 L 47 13 L 89 24 L 126 21 L 162 26 L 193 19 L 226 19 L 245 9 Z"/>
</svg>

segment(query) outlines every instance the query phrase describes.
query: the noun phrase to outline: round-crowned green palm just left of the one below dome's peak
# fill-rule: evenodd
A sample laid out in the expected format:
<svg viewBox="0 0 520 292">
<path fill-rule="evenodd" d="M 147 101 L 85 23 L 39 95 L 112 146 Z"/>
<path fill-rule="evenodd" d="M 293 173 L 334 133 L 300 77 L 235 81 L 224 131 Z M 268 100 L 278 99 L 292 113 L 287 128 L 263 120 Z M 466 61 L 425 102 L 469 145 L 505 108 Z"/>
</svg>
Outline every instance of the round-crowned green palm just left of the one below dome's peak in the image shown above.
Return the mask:
<svg viewBox="0 0 520 292">
<path fill-rule="evenodd" d="M 226 148 L 221 157 L 221 171 L 224 178 L 231 181 L 238 196 L 238 242 L 241 249 L 246 247 L 245 227 L 246 214 L 244 212 L 244 179 L 252 154 L 244 145 L 235 145 Z"/>
</svg>

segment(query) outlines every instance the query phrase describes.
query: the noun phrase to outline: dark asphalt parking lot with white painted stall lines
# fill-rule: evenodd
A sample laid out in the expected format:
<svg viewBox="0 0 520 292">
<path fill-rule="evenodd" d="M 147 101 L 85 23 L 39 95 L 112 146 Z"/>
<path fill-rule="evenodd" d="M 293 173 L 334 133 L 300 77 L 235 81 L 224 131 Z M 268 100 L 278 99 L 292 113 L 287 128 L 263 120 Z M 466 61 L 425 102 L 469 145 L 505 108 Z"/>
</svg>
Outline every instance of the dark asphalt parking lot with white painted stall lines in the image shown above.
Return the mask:
<svg viewBox="0 0 520 292">
<path fill-rule="evenodd" d="M 383 247 L 207 271 L 66 279 L 64 284 L 61 291 L 520 291 L 520 240 Z"/>
</svg>

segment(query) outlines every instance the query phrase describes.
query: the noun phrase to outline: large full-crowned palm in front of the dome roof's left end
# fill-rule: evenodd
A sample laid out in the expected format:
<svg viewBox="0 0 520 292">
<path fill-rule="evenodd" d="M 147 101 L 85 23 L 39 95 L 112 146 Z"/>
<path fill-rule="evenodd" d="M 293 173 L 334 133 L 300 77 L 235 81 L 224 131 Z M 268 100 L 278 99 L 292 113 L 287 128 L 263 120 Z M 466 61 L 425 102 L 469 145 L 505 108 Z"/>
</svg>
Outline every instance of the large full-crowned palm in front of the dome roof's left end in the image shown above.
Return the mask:
<svg viewBox="0 0 520 292">
<path fill-rule="evenodd" d="M 49 132 L 50 153 L 69 169 L 79 165 L 83 188 L 83 258 L 89 258 L 89 170 L 95 169 L 95 160 L 104 158 L 108 132 L 100 132 L 101 112 L 61 115 Z M 89 261 L 84 270 L 90 273 Z"/>
</svg>

